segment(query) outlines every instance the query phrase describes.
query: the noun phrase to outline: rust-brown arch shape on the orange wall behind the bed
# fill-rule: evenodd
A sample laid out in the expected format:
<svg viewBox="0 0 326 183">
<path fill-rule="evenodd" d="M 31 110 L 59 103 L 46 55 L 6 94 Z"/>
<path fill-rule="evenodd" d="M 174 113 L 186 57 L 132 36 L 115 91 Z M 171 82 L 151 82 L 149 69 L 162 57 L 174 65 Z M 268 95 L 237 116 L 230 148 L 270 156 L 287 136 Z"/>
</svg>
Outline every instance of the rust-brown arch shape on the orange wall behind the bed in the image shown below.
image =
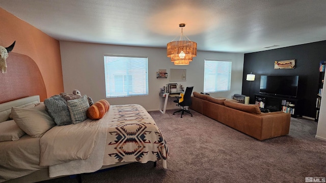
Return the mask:
<svg viewBox="0 0 326 183">
<path fill-rule="evenodd" d="M 42 74 L 34 60 L 24 54 L 10 52 L 7 73 L 0 73 L 0 103 L 39 95 L 46 99 Z"/>
</svg>

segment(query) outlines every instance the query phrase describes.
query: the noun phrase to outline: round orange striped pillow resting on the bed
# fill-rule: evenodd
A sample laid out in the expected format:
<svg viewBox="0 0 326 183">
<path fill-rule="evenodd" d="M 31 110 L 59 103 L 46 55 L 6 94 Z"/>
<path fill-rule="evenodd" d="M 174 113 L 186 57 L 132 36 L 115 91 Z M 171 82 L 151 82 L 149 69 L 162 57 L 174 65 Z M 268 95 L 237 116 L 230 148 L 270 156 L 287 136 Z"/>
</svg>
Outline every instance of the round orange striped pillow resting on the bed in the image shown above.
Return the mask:
<svg viewBox="0 0 326 183">
<path fill-rule="evenodd" d="M 110 109 L 110 103 L 102 99 L 95 102 L 91 107 L 88 108 L 86 114 L 90 119 L 100 119 Z"/>
</svg>

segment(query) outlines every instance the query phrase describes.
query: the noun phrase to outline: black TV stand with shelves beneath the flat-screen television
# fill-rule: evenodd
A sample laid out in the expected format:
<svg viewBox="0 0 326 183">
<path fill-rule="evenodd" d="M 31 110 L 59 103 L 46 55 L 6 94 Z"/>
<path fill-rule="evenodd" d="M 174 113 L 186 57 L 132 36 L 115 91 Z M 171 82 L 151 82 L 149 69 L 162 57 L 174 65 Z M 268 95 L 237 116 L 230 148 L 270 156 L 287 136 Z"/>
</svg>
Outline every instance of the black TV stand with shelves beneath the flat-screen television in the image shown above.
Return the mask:
<svg viewBox="0 0 326 183">
<path fill-rule="evenodd" d="M 283 111 L 291 114 L 291 117 L 300 115 L 298 100 L 293 97 L 280 97 L 267 94 L 254 94 L 255 103 L 260 108 L 267 109 L 269 112 Z"/>
</svg>

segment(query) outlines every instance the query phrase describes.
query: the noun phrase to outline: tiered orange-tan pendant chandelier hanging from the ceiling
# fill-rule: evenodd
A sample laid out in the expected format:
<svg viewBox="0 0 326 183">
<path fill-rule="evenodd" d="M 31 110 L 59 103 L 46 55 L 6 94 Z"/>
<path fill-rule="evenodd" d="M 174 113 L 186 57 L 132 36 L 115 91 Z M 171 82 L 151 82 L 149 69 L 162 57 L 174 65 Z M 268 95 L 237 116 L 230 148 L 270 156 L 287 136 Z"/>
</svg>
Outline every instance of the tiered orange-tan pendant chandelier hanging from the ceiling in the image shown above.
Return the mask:
<svg viewBox="0 0 326 183">
<path fill-rule="evenodd" d="M 193 57 L 197 56 L 197 43 L 194 41 L 183 41 L 182 27 L 184 23 L 180 23 L 181 27 L 181 36 L 179 41 L 174 41 L 167 44 L 167 56 L 171 58 L 171 62 L 174 62 L 174 65 L 189 65 L 189 62 L 193 61 Z"/>
</svg>

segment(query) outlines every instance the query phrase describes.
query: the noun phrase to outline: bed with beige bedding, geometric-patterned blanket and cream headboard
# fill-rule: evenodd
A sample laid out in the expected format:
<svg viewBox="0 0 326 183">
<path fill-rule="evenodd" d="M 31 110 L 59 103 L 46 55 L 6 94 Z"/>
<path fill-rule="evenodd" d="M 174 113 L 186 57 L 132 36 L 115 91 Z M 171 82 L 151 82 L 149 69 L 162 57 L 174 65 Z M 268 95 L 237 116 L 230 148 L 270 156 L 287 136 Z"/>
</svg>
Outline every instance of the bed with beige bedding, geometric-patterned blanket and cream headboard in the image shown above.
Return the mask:
<svg viewBox="0 0 326 183">
<path fill-rule="evenodd" d="M 39 96 L 2 103 L 0 125 L 12 123 L 8 120 L 12 107 L 42 105 Z M 24 134 L 2 141 L 0 154 L 0 182 L 36 182 L 133 162 L 159 162 L 166 169 L 169 158 L 164 136 L 137 104 L 111 105 L 101 119 L 54 126 L 40 137 Z"/>
</svg>

